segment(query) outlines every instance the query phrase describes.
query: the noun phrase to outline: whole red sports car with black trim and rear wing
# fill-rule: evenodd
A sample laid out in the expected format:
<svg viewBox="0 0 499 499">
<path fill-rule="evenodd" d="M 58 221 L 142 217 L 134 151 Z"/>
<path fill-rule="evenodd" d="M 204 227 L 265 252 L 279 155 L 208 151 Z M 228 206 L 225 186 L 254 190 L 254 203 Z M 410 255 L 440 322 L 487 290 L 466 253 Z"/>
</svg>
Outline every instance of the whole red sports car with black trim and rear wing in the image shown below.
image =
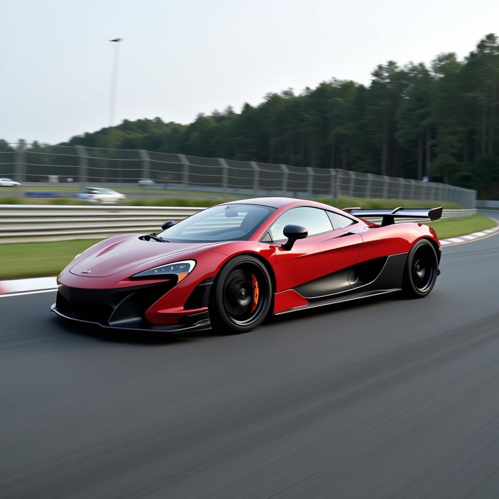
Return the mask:
<svg viewBox="0 0 499 499">
<path fill-rule="evenodd" d="M 441 216 L 288 198 L 225 203 L 83 251 L 59 275 L 51 309 L 111 328 L 245 332 L 268 314 L 397 291 L 423 297 L 440 273 L 440 243 L 430 227 L 395 219 Z"/>
</svg>

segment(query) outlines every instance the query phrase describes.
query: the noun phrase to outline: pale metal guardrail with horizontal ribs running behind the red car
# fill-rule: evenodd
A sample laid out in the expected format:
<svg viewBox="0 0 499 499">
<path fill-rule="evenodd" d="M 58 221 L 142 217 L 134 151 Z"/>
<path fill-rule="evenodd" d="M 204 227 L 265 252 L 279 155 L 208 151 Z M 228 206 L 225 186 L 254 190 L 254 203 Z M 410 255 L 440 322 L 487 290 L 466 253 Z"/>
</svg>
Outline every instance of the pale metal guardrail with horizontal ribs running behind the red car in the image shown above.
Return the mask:
<svg viewBox="0 0 499 499">
<path fill-rule="evenodd" d="M 158 231 L 205 208 L 136 206 L 0 205 L 0 244 L 24 241 L 103 239 L 116 234 Z M 471 217 L 477 210 L 444 210 L 442 218 Z M 374 223 L 381 219 L 369 219 Z M 401 222 L 427 219 L 404 219 Z"/>
</svg>

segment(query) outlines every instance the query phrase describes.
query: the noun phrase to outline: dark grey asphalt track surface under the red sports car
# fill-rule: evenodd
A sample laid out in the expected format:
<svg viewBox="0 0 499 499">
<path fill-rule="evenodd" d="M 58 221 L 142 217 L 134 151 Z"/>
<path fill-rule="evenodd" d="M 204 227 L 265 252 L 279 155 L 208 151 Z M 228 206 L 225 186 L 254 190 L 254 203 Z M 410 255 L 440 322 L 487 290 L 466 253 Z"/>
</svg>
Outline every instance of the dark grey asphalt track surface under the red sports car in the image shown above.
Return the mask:
<svg viewBox="0 0 499 499">
<path fill-rule="evenodd" d="M 250 334 L 118 336 L 0 299 L 0 496 L 499 493 L 499 237 L 444 249 L 422 300 Z"/>
</svg>

